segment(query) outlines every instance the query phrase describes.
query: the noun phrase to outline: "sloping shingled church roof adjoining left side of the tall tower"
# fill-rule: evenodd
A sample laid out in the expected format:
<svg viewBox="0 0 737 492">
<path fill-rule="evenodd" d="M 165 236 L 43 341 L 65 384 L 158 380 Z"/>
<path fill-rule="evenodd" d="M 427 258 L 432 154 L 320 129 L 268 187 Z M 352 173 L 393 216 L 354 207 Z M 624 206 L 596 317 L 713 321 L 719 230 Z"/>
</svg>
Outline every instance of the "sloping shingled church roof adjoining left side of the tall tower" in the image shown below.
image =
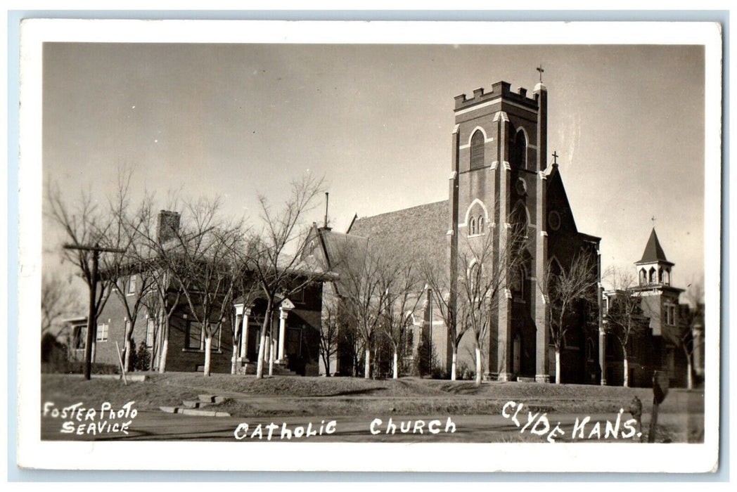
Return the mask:
<svg viewBox="0 0 737 492">
<path fill-rule="evenodd" d="M 379 244 L 385 254 L 399 261 L 434 264 L 447 261 L 448 201 L 427 203 L 386 214 L 356 219 L 349 236 Z"/>
</svg>

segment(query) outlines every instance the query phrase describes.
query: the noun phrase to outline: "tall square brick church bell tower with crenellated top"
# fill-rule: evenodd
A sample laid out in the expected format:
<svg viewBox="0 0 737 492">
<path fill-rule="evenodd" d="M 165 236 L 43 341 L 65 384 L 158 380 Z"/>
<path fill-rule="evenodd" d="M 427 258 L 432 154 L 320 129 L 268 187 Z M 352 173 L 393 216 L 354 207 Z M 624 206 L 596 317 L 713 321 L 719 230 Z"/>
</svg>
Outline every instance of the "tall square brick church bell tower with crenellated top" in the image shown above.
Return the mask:
<svg viewBox="0 0 737 492">
<path fill-rule="evenodd" d="M 525 88 L 512 91 L 508 82 L 496 82 L 489 91 L 475 89 L 470 97 L 455 96 L 450 278 L 464 274 L 458 271 L 459 258 L 474 245 L 490 242 L 498 260 L 512 226 L 526 231 L 522 268 L 503 282 L 484 341 L 486 376 L 502 381 L 521 375 L 549 379 L 546 307 L 535 284 L 544 278 L 548 261 L 547 106 L 542 80 L 531 96 Z"/>
</svg>

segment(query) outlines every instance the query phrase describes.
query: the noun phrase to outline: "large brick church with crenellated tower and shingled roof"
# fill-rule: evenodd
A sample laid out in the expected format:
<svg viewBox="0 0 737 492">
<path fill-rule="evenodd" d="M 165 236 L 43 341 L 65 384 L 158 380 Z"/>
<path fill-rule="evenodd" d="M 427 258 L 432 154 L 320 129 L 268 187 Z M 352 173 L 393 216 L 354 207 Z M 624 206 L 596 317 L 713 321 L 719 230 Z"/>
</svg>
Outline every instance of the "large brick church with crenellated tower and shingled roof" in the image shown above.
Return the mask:
<svg viewBox="0 0 737 492">
<path fill-rule="evenodd" d="M 346 233 L 329 228 L 312 232 L 319 236 L 327 261 L 335 245 L 380 242 L 392 256 L 435 259 L 448 269 L 448 278 L 457 279 L 464 252 L 489 242 L 498 259 L 515 230 L 512 225 L 521 227 L 523 260 L 500 286 L 480 343 L 486 379 L 554 380 L 548 306 L 537 282 L 545 278 L 548 264 L 566 268 L 577 255 L 600 265 L 601 239 L 576 227 L 557 155 L 550 158 L 547 106 L 548 90 L 542 82 L 531 95 L 497 82 L 490 91 L 478 88 L 471 97 L 455 96 L 448 200 L 354 219 Z M 596 275 L 601 278 L 600 266 Z M 595 284 L 592 288 L 598 289 Z M 416 314 L 416 328 L 430 337 L 438 363 L 447 368 L 451 345 L 435 309 L 438 295 L 447 292 L 427 293 L 423 312 Z M 593 306 L 593 312 L 597 309 Z M 592 327 L 583 314 L 575 318 L 561 351 L 562 382 L 598 384 L 604 362 L 601 326 L 594 322 Z M 474 346 L 469 334 L 461 338 L 458 365 L 475 367 Z M 341 373 L 341 368 L 331 372 Z"/>
</svg>

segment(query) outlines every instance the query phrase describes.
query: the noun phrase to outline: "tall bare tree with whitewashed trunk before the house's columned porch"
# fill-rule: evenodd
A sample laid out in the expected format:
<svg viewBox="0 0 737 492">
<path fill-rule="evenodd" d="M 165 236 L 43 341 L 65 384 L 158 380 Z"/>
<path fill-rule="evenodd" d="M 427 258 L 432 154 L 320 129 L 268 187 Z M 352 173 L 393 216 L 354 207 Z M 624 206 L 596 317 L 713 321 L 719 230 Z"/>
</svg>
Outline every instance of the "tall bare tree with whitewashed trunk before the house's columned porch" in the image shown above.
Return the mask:
<svg viewBox="0 0 737 492">
<path fill-rule="evenodd" d="M 261 325 L 256 378 L 264 376 L 266 336 L 279 304 L 317 279 L 321 272 L 301 263 L 302 244 L 307 239 L 306 215 L 316 205 L 322 180 L 307 175 L 293 181 L 291 194 L 279 211 L 274 211 L 265 195 L 259 196 L 262 231 L 252 243 L 252 254 L 242 258 L 252 272 L 266 301 Z"/>
</svg>

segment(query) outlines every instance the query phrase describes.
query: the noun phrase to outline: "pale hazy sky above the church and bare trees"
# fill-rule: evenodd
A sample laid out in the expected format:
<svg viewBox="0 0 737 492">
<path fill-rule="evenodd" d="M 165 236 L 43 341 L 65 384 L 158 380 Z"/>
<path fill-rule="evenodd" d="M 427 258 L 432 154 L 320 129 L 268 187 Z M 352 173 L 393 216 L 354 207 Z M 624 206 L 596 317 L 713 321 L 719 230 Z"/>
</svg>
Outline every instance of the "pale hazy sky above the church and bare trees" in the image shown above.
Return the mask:
<svg viewBox="0 0 737 492">
<path fill-rule="evenodd" d="M 700 46 L 46 43 L 43 182 L 102 200 L 132 166 L 134 197 L 221 194 L 255 221 L 258 194 L 281 203 L 309 172 L 345 231 L 354 214 L 447 200 L 453 96 L 498 80 L 531 93 L 541 63 L 548 150 L 604 268 L 635 273 L 654 225 L 673 284 L 702 276 Z M 55 268 L 60 234 L 43 227 Z"/>
</svg>

